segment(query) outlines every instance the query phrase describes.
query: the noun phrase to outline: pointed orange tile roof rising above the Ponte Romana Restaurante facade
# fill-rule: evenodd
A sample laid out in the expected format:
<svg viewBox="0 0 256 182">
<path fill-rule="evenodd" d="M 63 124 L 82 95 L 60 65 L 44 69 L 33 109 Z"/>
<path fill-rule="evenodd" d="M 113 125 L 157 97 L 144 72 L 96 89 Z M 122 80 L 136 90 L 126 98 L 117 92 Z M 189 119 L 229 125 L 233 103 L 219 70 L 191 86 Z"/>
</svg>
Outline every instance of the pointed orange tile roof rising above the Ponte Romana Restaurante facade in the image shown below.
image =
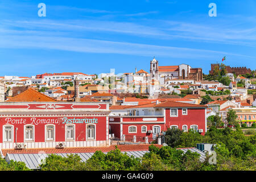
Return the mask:
<svg viewBox="0 0 256 182">
<path fill-rule="evenodd" d="M 57 100 L 29 88 L 6 102 L 57 102 Z"/>
</svg>

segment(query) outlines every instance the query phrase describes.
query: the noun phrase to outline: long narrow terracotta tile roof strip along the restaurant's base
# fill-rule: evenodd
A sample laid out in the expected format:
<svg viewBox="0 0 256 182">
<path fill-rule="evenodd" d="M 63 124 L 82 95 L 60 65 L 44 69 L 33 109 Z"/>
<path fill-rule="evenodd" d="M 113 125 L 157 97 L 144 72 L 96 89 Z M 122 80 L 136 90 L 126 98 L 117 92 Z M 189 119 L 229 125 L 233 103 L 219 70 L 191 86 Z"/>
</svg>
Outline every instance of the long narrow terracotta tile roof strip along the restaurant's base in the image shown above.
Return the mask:
<svg viewBox="0 0 256 182">
<path fill-rule="evenodd" d="M 125 151 L 147 151 L 151 144 L 121 144 L 117 148 L 123 152 Z M 161 148 L 162 145 L 154 144 L 154 146 Z M 59 154 L 59 153 L 85 153 L 85 152 L 109 152 L 115 150 L 115 146 L 106 147 L 71 147 L 71 148 L 31 148 L 31 149 L 2 149 L 4 156 L 6 154 L 38 154 L 39 151 L 44 151 L 46 154 Z"/>
</svg>

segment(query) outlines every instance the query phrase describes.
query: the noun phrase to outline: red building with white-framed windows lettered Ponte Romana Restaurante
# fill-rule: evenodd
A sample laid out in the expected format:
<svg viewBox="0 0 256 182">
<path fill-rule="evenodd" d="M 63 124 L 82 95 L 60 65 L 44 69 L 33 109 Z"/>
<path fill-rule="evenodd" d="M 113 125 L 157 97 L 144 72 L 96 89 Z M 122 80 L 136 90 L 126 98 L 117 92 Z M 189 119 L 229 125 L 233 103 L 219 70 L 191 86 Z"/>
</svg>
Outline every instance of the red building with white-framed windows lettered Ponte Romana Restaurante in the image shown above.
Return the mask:
<svg viewBox="0 0 256 182">
<path fill-rule="evenodd" d="M 108 146 L 109 113 L 103 102 L 57 102 L 28 89 L 0 104 L 0 148 Z"/>
</svg>

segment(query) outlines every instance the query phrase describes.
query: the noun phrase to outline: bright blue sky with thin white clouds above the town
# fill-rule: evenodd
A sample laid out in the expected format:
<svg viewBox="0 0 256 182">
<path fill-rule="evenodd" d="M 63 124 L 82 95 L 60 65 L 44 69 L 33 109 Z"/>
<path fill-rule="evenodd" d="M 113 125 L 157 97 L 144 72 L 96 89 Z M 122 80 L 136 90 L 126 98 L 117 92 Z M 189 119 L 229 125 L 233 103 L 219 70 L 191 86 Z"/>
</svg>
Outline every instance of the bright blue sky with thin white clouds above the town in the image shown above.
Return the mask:
<svg viewBox="0 0 256 182">
<path fill-rule="evenodd" d="M 38 4 L 46 4 L 46 17 Z M 210 17 L 209 3 L 217 17 Z M 256 1 L 1 1 L 0 75 L 149 72 L 159 65 L 256 69 Z"/>
</svg>

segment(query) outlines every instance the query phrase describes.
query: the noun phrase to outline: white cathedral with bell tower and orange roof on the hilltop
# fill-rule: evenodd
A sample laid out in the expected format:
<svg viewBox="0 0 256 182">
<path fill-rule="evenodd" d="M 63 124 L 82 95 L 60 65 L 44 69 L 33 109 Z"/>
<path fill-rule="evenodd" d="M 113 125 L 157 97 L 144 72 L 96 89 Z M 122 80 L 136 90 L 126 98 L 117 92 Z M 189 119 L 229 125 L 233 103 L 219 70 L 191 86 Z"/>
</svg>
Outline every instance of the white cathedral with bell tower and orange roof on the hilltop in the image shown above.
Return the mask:
<svg viewBox="0 0 256 182">
<path fill-rule="evenodd" d="M 150 61 L 150 76 L 152 80 L 203 80 L 202 68 L 191 68 L 188 64 L 174 66 L 159 66 L 155 58 Z"/>
</svg>

